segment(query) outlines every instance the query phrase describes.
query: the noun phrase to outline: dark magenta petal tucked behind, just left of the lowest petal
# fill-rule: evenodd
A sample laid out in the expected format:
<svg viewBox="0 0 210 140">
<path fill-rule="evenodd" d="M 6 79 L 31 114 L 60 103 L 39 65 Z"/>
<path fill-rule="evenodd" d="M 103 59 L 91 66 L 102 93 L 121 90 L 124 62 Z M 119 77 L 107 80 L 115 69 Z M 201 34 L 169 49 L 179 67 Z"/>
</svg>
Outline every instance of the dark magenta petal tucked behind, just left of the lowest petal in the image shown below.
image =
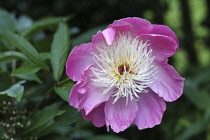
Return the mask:
<svg viewBox="0 0 210 140">
<path fill-rule="evenodd" d="M 93 125 L 96 127 L 102 127 L 105 125 L 105 113 L 104 113 L 105 103 L 100 104 L 98 107 L 94 108 L 88 115 L 82 110 L 82 116 L 86 121 L 92 120 Z"/>
</svg>

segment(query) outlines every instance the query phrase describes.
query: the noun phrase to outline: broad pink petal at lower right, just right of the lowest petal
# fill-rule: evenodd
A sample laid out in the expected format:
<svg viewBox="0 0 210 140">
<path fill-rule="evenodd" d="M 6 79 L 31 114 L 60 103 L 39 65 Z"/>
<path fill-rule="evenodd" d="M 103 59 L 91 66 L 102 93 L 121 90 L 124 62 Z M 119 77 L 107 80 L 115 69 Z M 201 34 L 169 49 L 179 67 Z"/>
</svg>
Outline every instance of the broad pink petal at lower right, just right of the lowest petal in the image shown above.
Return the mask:
<svg viewBox="0 0 210 140">
<path fill-rule="evenodd" d="M 133 123 L 140 130 L 160 124 L 163 113 L 166 110 L 164 99 L 152 90 L 149 90 L 148 93 L 140 93 L 139 95 L 140 99 L 137 102 L 139 110 Z"/>
</svg>

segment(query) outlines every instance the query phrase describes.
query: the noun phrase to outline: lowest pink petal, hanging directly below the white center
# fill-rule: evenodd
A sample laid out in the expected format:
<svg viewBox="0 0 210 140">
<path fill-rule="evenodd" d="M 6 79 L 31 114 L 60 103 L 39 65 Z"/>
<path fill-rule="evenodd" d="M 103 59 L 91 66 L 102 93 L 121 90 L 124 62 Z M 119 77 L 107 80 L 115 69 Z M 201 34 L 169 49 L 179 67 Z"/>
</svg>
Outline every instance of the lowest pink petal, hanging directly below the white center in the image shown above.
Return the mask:
<svg viewBox="0 0 210 140">
<path fill-rule="evenodd" d="M 106 125 L 119 133 L 128 128 L 136 117 L 138 106 L 136 101 L 128 101 L 126 106 L 126 98 L 121 97 L 113 104 L 114 98 L 110 98 L 105 103 Z"/>
</svg>

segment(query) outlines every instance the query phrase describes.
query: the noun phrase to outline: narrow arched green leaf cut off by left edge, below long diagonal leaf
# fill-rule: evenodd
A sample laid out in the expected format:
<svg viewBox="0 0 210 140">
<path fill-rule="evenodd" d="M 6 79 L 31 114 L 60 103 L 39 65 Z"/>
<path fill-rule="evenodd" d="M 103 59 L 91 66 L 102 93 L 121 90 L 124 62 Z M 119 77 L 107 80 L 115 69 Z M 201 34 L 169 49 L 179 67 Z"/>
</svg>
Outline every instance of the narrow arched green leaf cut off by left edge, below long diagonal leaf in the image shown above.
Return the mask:
<svg viewBox="0 0 210 140">
<path fill-rule="evenodd" d="M 28 58 L 20 52 L 8 51 L 0 54 L 0 62 L 13 59 L 28 60 Z"/>
</svg>

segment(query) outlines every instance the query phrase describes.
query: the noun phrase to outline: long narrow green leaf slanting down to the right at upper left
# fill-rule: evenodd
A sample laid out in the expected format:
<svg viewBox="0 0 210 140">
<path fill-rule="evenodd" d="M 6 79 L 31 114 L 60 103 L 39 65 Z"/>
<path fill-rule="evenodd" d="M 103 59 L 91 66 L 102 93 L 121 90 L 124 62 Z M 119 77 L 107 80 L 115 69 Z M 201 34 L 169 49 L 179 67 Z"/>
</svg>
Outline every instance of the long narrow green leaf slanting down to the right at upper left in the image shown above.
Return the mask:
<svg viewBox="0 0 210 140">
<path fill-rule="evenodd" d="M 7 40 L 9 40 L 14 46 L 16 46 L 21 52 L 23 52 L 25 55 L 28 56 L 28 58 L 42 66 L 45 69 L 48 69 L 46 67 L 46 65 L 44 65 L 44 63 L 42 62 L 39 53 L 37 52 L 37 50 L 23 37 L 12 33 L 12 32 L 6 32 L 4 34 L 4 36 L 7 38 Z"/>
</svg>

